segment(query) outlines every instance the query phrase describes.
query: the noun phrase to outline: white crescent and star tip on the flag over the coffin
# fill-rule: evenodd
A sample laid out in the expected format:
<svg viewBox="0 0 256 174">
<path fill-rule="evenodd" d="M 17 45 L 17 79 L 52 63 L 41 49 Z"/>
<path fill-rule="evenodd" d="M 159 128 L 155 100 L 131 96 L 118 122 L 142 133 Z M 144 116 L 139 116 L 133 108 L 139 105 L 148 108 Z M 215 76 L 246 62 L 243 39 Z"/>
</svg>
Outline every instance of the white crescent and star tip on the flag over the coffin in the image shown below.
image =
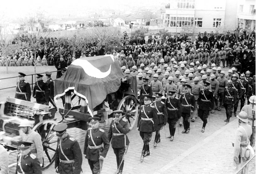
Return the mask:
<svg viewBox="0 0 256 174">
<path fill-rule="evenodd" d="M 113 55 L 105 55 L 110 56 L 111 59 L 114 62 L 114 56 Z M 107 72 L 101 72 L 98 68 L 94 67 L 89 61 L 82 60 L 82 59 L 76 59 L 74 62 L 71 63 L 71 65 L 80 66 L 84 69 L 84 72 L 94 78 L 97 79 L 103 79 L 107 77 L 111 73 L 111 65 L 109 67 L 109 70 Z"/>
</svg>

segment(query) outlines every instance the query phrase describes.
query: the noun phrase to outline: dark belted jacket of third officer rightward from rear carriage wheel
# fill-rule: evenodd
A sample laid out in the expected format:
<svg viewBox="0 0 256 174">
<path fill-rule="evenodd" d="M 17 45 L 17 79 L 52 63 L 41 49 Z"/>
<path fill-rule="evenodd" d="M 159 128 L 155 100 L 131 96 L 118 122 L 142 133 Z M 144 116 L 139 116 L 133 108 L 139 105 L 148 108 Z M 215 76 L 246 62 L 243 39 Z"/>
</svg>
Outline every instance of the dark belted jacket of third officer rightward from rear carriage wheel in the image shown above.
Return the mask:
<svg viewBox="0 0 256 174">
<path fill-rule="evenodd" d="M 174 99 L 168 97 L 165 101 L 165 105 L 167 108 L 168 118 L 175 119 L 181 117 L 181 102 L 177 97 Z"/>
</svg>

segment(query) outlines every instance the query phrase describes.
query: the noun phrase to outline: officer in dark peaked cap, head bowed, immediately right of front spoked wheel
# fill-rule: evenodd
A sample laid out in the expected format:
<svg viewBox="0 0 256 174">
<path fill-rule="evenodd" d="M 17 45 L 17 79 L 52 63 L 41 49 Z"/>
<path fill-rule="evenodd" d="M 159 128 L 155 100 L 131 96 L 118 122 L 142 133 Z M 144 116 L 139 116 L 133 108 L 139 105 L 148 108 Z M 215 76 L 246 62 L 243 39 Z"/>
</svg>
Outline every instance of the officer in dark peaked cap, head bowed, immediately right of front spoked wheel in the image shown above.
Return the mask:
<svg viewBox="0 0 256 174">
<path fill-rule="evenodd" d="M 54 126 L 58 137 L 58 145 L 55 158 L 55 171 L 60 174 L 82 173 L 82 152 L 78 142 L 69 136 L 66 123 Z"/>
</svg>

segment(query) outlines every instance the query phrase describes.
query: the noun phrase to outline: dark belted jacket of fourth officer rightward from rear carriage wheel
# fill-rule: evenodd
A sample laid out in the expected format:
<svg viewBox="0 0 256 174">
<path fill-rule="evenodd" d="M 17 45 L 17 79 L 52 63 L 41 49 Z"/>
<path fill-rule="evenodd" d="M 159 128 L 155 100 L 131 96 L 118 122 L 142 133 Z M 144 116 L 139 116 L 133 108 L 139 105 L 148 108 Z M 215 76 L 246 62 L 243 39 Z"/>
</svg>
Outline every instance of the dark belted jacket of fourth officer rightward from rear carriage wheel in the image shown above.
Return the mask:
<svg viewBox="0 0 256 174">
<path fill-rule="evenodd" d="M 181 112 L 190 113 L 190 111 L 195 110 L 196 101 L 195 101 L 195 96 L 193 94 L 190 94 L 190 93 L 182 94 L 180 98 L 180 102 L 181 102 Z"/>
</svg>

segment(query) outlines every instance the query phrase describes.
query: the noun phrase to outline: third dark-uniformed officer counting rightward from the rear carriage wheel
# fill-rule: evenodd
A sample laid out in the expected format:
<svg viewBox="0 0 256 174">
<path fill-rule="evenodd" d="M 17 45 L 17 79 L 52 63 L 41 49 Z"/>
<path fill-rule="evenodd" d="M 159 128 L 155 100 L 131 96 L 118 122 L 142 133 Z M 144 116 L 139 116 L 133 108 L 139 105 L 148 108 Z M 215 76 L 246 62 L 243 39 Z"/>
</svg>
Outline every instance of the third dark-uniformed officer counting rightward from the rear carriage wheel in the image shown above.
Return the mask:
<svg viewBox="0 0 256 174">
<path fill-rule="evenodd" d="M 170 138 L 171 141 L 174 139 L 176 124 L 181 117 L 181 102 L 177 97 L 175 97 L 175 93 L 175 90 L 168 91 L 168 97 L 165 101 L 168 115 L 167 122 L 169 124 L 170 131 L 170 136 L 167 138 Z"/>
</svg>

